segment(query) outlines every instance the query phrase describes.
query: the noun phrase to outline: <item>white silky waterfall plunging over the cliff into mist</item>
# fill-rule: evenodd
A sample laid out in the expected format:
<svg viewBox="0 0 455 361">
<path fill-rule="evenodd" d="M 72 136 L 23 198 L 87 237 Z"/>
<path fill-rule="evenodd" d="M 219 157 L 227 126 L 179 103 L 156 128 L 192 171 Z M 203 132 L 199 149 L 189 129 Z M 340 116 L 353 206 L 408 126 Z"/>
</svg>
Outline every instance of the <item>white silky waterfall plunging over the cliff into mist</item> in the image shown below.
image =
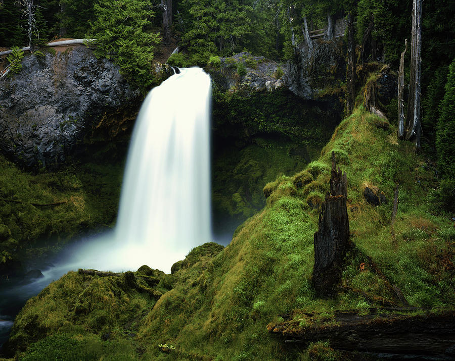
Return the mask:
<svg viewBox="0 0 455 361">
<path fill-rule="evenodd" d="M 113 234 L 78 250 L 80 267 L 169 272 L 211 238 L 210 78 L 180 69 L 144 100 Z M 99 237 L 100 238 L 100 237 Z"/>
</svg>

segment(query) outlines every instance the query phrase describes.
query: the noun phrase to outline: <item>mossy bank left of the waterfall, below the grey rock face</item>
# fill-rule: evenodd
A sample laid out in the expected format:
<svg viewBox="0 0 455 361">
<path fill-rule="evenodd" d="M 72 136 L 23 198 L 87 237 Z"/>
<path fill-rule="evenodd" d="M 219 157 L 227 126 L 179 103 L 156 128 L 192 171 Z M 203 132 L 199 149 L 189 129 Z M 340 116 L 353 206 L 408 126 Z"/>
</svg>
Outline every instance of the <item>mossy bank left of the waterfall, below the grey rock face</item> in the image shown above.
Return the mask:
<svg viewBox="0 0 455 361">
<path fill-rule="evenodd" d="M 15 260 L 42 259 L 78 234 L 111 226 L 122 171 L 121 164 L 79 164 L 35 174 L 0 156 L 2 275 L 11 275 Z"/>
</svg>

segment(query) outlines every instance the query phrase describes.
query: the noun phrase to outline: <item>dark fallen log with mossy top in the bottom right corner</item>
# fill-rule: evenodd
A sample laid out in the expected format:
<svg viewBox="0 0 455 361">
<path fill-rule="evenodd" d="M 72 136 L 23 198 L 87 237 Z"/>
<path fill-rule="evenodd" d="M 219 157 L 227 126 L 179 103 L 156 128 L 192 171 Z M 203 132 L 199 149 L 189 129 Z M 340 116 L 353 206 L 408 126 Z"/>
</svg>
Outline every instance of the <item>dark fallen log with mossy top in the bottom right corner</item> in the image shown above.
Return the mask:
<svg viewBox="0 0 455 361">
<path fill-rule="evenodd" d="M 337 311 L 333 320 L 324 323 L 317 321 L 317 315 L 302 316 L 304 324 L 310 325 L 305 327 L 300 326 L 302 320 L 285 318 L 267 325 L 267 330 L 287 344 L 329 341 L 333 348 L 368 352 L 381 359 L 454 359 L 455 312 L 403 315 L 406 311 L 416 308 L 372 308 L 363 316 Z"/>
</svg>

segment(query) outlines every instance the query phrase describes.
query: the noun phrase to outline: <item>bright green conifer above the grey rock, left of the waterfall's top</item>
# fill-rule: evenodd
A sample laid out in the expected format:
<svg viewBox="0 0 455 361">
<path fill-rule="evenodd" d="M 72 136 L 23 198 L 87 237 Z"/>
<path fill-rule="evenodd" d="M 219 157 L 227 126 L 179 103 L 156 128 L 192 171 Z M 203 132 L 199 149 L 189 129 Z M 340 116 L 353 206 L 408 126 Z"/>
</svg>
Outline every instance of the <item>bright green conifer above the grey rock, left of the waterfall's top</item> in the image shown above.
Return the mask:
<svg viewBox="0 0 455 361">
<path fill-rule="evenodd" d="M 100 0 L 94 5 L 90 37 L 97 39 L 95 55 L 110 59 L 142 90 L 154 82 L 153 49 L 158 34 L 148 31 L 154 12 L 143 0 Z"/>
</svg>

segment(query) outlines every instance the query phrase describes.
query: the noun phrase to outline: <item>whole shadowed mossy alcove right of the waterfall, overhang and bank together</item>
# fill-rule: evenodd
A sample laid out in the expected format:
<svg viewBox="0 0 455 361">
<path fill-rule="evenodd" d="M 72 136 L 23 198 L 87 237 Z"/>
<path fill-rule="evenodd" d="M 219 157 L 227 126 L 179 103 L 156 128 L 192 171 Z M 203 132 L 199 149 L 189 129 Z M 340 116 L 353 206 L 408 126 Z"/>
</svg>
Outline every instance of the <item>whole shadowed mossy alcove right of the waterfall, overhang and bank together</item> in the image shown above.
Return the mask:
<svg viewBox="0 0 455 361">
<path fill-rule="evenodd" d="M 327 100 L 327 99 L 326 99 Z M 230 232 L 265 205 L 262 188 L 318 157 L 340 120 L 330 101 L 271 93 L 213 91 L 212 200 L 217 233 Z M 232 233 L 231 233 L 232 234 Z"/>
</svg>

